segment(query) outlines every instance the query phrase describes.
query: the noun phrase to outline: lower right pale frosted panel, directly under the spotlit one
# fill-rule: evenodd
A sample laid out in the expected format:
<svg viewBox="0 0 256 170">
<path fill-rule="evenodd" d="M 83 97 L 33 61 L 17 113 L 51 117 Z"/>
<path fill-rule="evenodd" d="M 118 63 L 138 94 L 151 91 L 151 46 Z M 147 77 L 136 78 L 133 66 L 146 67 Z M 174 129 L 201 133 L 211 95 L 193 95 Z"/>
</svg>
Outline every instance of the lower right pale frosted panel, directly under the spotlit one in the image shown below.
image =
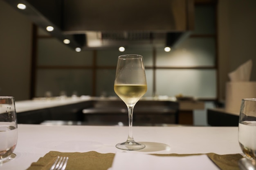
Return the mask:
<svg viewBox="0 0 256 170">
<path fill-rule="evenodd" d="M 214 69 L 158 69 L 158 95 L 216 98 L 216 70 Z"/>
</svg>

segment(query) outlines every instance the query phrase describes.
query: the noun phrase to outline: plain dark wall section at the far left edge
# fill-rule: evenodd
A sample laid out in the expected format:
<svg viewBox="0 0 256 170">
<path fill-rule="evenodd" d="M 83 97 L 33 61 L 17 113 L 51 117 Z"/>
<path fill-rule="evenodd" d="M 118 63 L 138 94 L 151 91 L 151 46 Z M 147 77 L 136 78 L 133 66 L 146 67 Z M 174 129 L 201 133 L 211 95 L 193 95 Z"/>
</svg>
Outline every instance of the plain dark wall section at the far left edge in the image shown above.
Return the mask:
<svg viewBox="0 0 256 170">
<path fill-rule="evenodd" d="M 0 96 L 29 99 L 31 22 L 0 0 Z"/>
</svg>

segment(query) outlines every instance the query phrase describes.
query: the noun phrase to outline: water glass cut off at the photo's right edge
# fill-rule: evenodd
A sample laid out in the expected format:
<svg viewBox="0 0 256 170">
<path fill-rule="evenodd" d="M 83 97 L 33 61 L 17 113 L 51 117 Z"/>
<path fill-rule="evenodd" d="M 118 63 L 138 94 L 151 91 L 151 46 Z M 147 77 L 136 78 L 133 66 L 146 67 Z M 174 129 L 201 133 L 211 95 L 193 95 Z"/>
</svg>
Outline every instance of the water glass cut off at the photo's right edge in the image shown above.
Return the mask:
<svg viewBox="0 0 256 170">
<path fill-rule="evenodd" d="M 256 167 L 256 98 L 242 99 L 238 141 L 247 161 Z"/>
</svg>

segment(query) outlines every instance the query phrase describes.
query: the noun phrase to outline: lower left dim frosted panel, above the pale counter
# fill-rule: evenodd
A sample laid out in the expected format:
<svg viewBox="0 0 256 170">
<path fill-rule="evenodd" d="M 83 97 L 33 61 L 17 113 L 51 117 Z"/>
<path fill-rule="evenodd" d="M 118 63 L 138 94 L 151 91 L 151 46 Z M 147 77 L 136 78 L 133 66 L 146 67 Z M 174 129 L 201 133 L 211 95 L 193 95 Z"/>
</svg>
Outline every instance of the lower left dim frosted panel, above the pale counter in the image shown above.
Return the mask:
<svg viewBox="0 0 256 170">
<path fill-rule="evenodd" d="M 92 71 L 90 69 L 38 69 L 36 97 L 45 96 L 50 91 L 53 96 L 60 96 L 65 91 L 67 96 L 91 95 Z"/>
</svg>

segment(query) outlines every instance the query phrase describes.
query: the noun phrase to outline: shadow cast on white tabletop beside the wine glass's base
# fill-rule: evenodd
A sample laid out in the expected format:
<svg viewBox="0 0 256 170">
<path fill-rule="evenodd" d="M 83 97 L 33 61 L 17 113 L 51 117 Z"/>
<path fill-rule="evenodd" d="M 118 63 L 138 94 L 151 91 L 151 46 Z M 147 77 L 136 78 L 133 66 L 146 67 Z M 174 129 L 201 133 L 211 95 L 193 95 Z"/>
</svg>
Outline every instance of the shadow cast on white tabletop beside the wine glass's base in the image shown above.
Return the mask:
<svg viewBox="0 0 256 170">
<path fill-rule="evenodd" d="M 169 145 L 164 143 L 157 143 L 157 142 L 139 142 L 146 145 L 146 147 L 142 150 L 138 150 L 138 152 L 157 152 L 162 150 L 171 150 Z"/>
</svg>

